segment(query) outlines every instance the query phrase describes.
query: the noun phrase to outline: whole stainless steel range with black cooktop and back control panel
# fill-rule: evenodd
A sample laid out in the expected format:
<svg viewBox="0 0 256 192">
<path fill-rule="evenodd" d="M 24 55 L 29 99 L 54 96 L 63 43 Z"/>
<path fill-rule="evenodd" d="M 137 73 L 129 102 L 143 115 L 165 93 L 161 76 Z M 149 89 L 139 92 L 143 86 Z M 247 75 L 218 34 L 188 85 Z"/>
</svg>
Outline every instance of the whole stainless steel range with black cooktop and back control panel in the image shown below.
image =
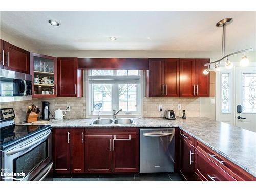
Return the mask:
<svg viewBox="0 0 256 192">
<path fill-rule="evenodd" d="M 0 109 L 1 181 L 41 181 L 52 171 L 51 126 L 15 125 Z"/>
</svg>

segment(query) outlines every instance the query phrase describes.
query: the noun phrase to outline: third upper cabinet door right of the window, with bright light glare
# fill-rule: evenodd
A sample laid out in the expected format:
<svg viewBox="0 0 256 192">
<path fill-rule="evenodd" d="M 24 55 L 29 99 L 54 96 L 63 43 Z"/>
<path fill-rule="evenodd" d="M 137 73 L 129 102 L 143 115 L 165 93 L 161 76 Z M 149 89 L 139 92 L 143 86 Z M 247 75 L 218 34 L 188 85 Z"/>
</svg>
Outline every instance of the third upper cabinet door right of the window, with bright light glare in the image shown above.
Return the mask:
<svg viewBox="0 0 256 192">
<path fill-rule="evenodd" d="M 180 59 L 180 97 L 194 97 L 195 89 L 195 59 Z"/>
</svg>

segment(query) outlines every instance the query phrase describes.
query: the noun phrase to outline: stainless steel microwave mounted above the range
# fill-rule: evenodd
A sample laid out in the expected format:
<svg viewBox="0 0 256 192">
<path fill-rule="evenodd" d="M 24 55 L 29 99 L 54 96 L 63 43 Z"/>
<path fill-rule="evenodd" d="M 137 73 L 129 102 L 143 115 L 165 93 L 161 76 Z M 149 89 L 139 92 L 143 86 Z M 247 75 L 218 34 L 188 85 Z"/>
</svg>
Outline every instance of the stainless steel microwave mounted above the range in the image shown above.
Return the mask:
<svg viewBox="0 0 256 192">
<path fill-rule="evenodd" d="M 0 69 L 0 102 L 32 99 L 32 75 Z"/>
</svg>

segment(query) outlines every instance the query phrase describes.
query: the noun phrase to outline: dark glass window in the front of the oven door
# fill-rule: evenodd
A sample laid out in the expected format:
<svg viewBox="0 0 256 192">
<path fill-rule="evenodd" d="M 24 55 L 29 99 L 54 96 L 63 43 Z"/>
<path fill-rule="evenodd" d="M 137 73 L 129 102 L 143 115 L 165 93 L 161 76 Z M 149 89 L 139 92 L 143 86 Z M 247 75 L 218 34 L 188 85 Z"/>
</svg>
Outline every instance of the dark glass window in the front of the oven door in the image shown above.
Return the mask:
<svg viewBox="0 0 256 192">
<path fill-rule="evenodd" d="M 13 160 L 13 167 L 15 173 L 25 173 L 28 175 L 37 165 L 48 157 L 47 141 L 41 143 L 28 153 L 19 156 Z M 16 178 L 22 178 L 17 176 Z"/>
</svg>

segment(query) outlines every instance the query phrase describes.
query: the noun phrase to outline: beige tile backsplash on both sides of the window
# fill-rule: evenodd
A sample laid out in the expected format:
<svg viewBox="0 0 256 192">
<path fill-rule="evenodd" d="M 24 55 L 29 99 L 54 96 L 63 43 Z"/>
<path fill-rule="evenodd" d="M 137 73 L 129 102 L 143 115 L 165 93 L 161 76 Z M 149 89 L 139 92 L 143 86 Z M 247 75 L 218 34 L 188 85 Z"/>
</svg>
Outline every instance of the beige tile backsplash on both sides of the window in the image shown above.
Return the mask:
<svg viewBox="0 0 256 192">
<path fill-rule="evenodd" d="M 201 99 L 201 100 L 200 100 Z M 67 106 L 71 107 L 71 111 L 68 111 L 65 118 L 85 118 L 86 117 L 86 102 L 85 98 L 73 98 L 73 97 L 58 97 L 40 99 L 34 98 L 30 101 L 18 101 L 0 103 L 1 108 L 12 107 L 15 111 L 15 122 L 22 122 L 26 120 L 26 111 L 28 106 L 35 104 L 41 108 L 41 101 L 50 102 L 50 112 L 54 116 L 54 110 L 60 108 L 66 110 Z M 204 102 L 202 102 L 204 101 Z M 187 117 L 199 117 L 208 116 L 209 118 L 215 119 L 214 105 L 209 105 L 210 98 L 144 98 L 143 99 L 143 117 L 161 117 L 159 111 L 159 105 L 162 105 L 162 114 L 164 110 L 172 109 L 175 111 L 176 116 L 182 116 L 182 110 L 186 110 Z M 177 109 L 177 105 L 181 104 L 181 109 Z M 210 109 L 211 108 L 211 109 Z M 205 115 L 205 109 L 213 111 L 210 114 Z M 203 111 L 202 111 L 203 110 Z M 51 117 L 51 116 L 50 116 Z"/>
</svg>

